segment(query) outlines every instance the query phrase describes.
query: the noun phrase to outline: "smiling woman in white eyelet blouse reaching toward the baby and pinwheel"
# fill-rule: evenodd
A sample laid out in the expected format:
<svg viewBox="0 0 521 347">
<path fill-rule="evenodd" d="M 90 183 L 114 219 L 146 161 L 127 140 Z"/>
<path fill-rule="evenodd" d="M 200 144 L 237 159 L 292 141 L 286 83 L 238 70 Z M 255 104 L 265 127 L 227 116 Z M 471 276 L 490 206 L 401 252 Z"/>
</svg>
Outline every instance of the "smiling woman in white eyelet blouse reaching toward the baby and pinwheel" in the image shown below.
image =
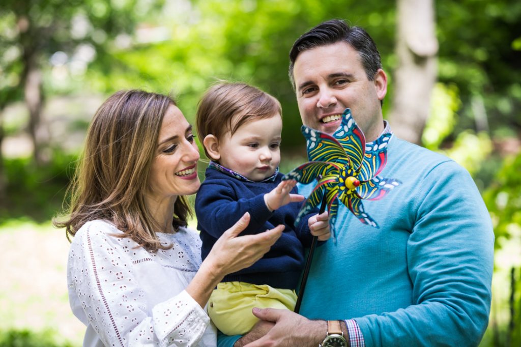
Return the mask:
<svg viewBox="0 0 521 347">
<path fill-rule="evenodd" d="M 192 126 L 169 97 L 120 91 L 97 110 L 71 186 L 69 301 L 84 346 L 212 346 L 204 306 L 229 272 L 252 265 L 283 226 L 238 234 L 244 215 L 201 263 L 184 195 L 199 189 Z"/>
</svg>

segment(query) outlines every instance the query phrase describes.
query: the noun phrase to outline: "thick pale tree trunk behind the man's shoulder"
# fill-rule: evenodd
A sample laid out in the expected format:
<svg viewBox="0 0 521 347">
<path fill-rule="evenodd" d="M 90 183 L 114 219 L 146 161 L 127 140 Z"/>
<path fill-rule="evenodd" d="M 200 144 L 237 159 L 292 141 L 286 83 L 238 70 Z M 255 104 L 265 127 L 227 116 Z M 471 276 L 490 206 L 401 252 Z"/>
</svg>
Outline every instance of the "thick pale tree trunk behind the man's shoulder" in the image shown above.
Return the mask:
<svg viewBox="0 0 521 347">
<path fill-rule="evenodd" d="M 436 82 L 433 0 L 398 0 L 394 97 L 389 120 L 399 138 L 420 143 Z"/>
</svg>

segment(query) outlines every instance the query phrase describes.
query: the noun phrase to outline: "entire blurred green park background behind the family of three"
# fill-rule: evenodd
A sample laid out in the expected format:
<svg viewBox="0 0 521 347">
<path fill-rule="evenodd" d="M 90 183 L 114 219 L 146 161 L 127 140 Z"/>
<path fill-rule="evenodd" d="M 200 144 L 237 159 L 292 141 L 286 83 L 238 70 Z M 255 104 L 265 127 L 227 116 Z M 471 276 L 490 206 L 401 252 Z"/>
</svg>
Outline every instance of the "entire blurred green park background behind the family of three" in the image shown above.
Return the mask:
<svg viewBox="0 0 521 347">
<path fill-rule="evenodd" d="M 81 345 L 83 327 L 67 301 L 68 242 L 51 218 L 89 121 L 109 94 L 172 93 L 193 122 L 210 83 L 259 86 L 282 103 L 287 172 L 305 161 L 288 52 L 300 34 L 331 18 L 364 27 L 377 43 L 390 83 L 384 117 L 393 130 L 415 120 L 412 139 L 473 175 L 496 236 L 493 303 L 481 345 L 521 345 L 521 2 L 418 0 L 418 12 L 401 10 L 411 3 L 3 0 L 0 345 Z M 404 45 L 411 33 L 427 39 Z M 434 45 L 421 46 L 428 43 Z M 434 67 L 405 80 L 425 88 L 426 97 L 399 83 L 411 64 Z M 401 111 L 403 100 L 424 105 L 425 116 Z"/>
</svg>

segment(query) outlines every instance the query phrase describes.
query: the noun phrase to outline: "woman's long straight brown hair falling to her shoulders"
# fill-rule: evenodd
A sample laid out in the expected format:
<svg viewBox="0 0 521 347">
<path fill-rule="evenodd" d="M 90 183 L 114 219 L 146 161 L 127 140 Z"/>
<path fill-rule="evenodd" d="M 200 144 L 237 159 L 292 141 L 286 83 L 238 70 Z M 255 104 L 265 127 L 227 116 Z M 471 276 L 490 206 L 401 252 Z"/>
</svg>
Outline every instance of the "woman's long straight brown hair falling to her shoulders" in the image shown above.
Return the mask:
<svg viewBox="0 0 521 347">
<path fill-rule="evenodd" d="M 157 151 L 168 96 L 141 90 L 119 91 L 96 111 L 85 140 L 79 167 L 69 186 L 65 216 L 55 218 L 71 241 L 83 224 L 105 219 L 150 251 L 168 249 L 155 231 L 163 230 L 145 203 L 148 175 Z M 67 198 L 66 198 L 67 199 Z M 173 227 L 187 225 L 191 210 L 178 196 Z"/>
</svg>

